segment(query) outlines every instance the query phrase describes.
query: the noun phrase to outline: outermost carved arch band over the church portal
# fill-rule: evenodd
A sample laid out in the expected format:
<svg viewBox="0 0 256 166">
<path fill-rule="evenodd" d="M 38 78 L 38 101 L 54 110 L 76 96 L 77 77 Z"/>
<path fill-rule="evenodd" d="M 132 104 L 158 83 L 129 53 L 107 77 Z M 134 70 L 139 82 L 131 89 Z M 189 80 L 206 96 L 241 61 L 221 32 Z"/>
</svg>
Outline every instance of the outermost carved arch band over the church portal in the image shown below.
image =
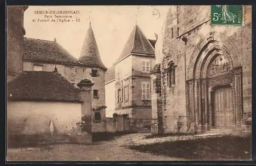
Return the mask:
<svg viewBox="0 0 256 166">
<path fill-rule="evenodd" d="M 208 48 L 208 45 L 212 42 L 218 42 L 219 45 L 224 45 L 229 52 L 233 67 L 241 66 L 241 61 L 239 55 L 242 54 L 241 50 L 237 48 L 236 44 L 229 38 L 225 37 L 225 34 L 214 32 L 214 38 L 212 40 L 207 40 L 204 38 L 200 40 L 198 45 L 195 47 L 193 53 L 191 54 L 190 61 L 187 68 L 187 79 L 193 79 L 193 72 L 196 62 L 199 60 L 202 52 Z"/>
</svg>

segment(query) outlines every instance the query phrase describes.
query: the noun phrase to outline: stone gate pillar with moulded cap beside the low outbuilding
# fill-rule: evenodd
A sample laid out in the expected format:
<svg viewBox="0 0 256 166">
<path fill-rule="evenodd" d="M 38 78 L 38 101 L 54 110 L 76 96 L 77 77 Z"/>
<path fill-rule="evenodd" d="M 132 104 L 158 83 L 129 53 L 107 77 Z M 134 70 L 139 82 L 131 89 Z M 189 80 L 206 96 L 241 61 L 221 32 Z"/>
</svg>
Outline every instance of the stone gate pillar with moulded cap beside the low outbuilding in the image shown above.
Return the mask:
<svg viewBox="0 0 256 166">
<path fill-rule="evenodd" d="M 77 86 L 80 88 L 81 114 L 83 130 L 87 133 L 92 132 L 92 86 L 94 83 L 89 79 L 82 79 Z"/>
</svg>

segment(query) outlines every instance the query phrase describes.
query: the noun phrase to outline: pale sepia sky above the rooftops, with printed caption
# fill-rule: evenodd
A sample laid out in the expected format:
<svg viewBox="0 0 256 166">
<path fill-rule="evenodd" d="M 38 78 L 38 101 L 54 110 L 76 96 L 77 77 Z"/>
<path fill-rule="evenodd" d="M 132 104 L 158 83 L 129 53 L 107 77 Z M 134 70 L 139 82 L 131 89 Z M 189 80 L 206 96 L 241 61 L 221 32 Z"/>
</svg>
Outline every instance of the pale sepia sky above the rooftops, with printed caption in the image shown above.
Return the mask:
<svg viewBox="0 0 256 166">
<path fill-rule="evenodd" d="M 106 67 L 118 59 L 134 25 L 137 24 L 149 39 L 156 39 L 161 32 L 169 6 L 29 6 L 24 13 L 25 37 L 56 41 L 79 58 L 86 36 L 89 20 Z M 79 14 L 56 14 L 72 16 L 70 22 L 38 22 L 45 15 L 36 11 L 79 11 Z M 89 18 L 90 17 L 90 18 Z M 36 21 L 33 21 L 35 19 Z M 78 20 L 75 21 L 75 20 Z"/>
</svg>

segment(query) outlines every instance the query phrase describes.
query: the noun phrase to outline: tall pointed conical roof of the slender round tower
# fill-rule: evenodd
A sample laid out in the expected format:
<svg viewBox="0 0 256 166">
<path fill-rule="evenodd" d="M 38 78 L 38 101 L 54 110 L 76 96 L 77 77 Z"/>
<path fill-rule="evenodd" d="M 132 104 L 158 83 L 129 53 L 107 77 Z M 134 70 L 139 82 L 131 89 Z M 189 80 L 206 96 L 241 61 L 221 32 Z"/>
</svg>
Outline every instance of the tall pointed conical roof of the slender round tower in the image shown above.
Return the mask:
<svg viewBox="0 0 256 166">
<path fill-rule="evenodd" d="M 84 39 L 83 42 L 79 62 L 88 67 L 99 67 L 104 70 L 107 69 L 100 59 L 99 49 L 94 37 L 91 22 L 86 34 L 86 39 Z"/>
</svg>

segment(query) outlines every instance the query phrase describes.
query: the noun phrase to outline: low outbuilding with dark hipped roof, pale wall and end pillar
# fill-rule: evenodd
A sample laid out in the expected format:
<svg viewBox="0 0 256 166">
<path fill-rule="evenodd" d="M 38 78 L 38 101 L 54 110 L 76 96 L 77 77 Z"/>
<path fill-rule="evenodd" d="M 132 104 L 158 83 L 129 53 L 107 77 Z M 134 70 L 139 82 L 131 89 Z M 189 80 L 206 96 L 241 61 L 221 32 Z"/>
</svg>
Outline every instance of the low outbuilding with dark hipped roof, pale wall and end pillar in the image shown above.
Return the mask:
<svg viewBox="0 0 256 166">
<path fill-rule="evenodd" d="M 88 87 L 91 89 L 93 84 L 89 83 L 80 85 L 79 90 L 56 68 L 51 72 L 22 72 L 8 82 L 8 136 L 61 136 L 81 134 L 83 131 L 83 134 L 87 133 L 87 143 L 91 143 L 91 94 L 84 91 Z M 82 116 L 91 117 L 84 127 L 86 130 L 81 130 Z"/>
</svg>

